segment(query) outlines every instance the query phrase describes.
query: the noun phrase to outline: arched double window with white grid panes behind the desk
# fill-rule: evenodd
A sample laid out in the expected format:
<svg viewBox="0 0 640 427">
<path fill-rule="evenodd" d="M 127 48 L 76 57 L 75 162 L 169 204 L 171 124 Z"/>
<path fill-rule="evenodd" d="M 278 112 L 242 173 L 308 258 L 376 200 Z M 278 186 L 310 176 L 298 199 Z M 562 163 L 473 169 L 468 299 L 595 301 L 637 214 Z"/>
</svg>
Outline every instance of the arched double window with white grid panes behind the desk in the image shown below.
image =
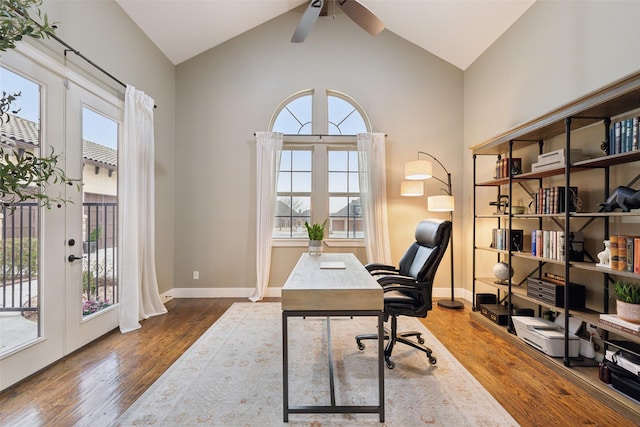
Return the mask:
<svg viewBox="0 0 640 427">
<path fill-rule="evenodd" d="M 328 219 L 330 239 L 363 239 L 356 135 L 371 128 L 362 108 L 336 91 L 295 93 L 276 109 L 271 129 L 285 134 L 273 237 L 306 239 L 305 221 Z M 313 111 L 313 105 L 326 108 Z"/>
</svg>

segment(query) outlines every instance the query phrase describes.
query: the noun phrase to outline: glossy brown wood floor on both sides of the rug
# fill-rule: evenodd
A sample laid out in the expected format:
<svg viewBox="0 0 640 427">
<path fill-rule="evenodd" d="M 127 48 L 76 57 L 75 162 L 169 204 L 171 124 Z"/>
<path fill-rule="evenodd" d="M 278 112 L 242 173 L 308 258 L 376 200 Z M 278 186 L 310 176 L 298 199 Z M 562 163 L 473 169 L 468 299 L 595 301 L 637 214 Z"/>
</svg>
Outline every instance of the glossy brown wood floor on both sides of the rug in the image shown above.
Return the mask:
<svg viewBox="0 0 640 427">
<path fill-rule="evenodd" d="M 247 302 L 172 300 L 168 314 L 141 329 L 105 335 L 0 393 L 0 425 L 112 425 L 236 301 Z M 469 310 L 434 304 L 424 324 L 522 426 L 638 425 L 640 418 L 607 407 L 471 319 Z"/>
</svg>

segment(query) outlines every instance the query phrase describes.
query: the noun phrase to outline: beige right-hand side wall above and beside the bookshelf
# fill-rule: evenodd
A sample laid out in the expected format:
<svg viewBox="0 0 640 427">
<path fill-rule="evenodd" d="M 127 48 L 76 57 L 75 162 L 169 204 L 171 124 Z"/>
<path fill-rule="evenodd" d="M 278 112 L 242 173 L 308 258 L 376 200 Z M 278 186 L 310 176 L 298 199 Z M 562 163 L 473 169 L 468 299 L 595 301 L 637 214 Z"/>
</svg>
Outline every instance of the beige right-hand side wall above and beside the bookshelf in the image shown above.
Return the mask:
<svg viewBox="0 0 640 427">
<path fill-rule="evenodd" d="M 638 16 L 640 2 L 537 1 L 465 71 L 464 145 L 479 144 L 639 70 Z M 463 161 L 471 171 L 470 152 Z M 471 173 L 465 175 L 467 289 L 472 180 Z"/>
</svg>

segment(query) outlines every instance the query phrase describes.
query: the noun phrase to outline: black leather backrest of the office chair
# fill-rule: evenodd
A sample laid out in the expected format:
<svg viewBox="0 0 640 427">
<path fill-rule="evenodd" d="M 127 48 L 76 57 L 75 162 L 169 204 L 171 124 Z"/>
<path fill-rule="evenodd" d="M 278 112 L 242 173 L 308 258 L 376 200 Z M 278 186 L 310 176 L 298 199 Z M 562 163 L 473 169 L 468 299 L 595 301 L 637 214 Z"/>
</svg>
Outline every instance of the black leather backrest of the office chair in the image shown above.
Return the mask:
<svg viewBox="0 0 640 427">
<path fill-rule="evenodd" d="M 400 259 L 400 274 L 413 277 L 419 286 L 431 287 L 450 236 L 451 221 L 420 221 L 416 227 L 416 241 Z"/>
</svg>

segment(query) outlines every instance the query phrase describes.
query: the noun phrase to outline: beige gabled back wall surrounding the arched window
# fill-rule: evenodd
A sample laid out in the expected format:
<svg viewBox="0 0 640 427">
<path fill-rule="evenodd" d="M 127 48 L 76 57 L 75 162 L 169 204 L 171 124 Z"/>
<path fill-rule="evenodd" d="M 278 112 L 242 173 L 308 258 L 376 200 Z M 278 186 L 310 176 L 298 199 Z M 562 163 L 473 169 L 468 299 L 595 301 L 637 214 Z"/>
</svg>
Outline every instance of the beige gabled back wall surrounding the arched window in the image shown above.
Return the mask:
<svg viewBox="0 0 640 427">
<path fill-rule="evenodd" d="M 176 287 L 255 286 L 253 133 L 267 130 L 278 104 L 299 90 L 352 96 L 388 135 L 394 261 L 428 215 L 426 197 L 399 196 L 404 162 L 432 153 L 462 195 L 462 71 L 388 31 L 371 37 L 341 14 L 320 18 L 305 43 L 292 44 L 299 19 L 286 13 L 177 67 Z M 274 250 L 271 286 L 283 284 L 303 251 Z"/>
</svg>

